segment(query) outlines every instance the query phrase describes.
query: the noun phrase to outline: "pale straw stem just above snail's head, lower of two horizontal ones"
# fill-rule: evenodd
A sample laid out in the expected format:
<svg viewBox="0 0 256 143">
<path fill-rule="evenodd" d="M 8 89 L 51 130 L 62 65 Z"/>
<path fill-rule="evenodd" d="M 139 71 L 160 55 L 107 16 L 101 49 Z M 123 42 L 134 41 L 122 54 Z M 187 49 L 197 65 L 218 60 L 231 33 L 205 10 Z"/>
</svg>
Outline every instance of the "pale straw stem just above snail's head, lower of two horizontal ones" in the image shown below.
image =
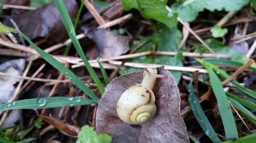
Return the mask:
<svg viewBox="0 0 256 143">
<path fill-rule="evenodd" d="M 109 61 L 110 64 L 113 65 L 120 65 L 121 61 Z M 156 64 L 141 64 L 141 63 L 124 63 L 124 66 L 128 67 L 135 67 L 135 68 L 157 68 L 163 67 L 167 70 L 174 70 L 174 71 L 185 71 L 185 72 L 195 72 L 199 71 L 200 73 L 207 73 L 205 69 L 197 69 L 197 68 L 189 68 L 189 67 L 178 67 L 178 66 L 168 66 L 168 65 L 156 65 Z"/>
</svg>

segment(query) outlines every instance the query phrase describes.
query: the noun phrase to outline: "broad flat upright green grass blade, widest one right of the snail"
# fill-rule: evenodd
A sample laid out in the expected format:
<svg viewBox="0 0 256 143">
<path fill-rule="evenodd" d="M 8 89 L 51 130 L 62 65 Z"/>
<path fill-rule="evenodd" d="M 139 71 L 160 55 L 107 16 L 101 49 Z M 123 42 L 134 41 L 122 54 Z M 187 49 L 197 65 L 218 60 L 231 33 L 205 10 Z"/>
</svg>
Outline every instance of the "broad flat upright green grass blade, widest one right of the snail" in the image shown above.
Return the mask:
<svg viewBox="0 0 256 143">
<path fill-rule="evenodd" d="M 223 90 L 222 84 L 218 76 L 212 70 L 212 67 L 205 63 L 205 68 L 208 71 L 211 88 L 214 91 L 215 97 L 217 99 L 218 108 L 220 111 L 221 119 L 223 122 L 225 134 L 227 138 L 238 138 L 238 131 L 236 123 L 232 115 L 232 111 L 227 100 L 227 96 Z"/>
</svg>

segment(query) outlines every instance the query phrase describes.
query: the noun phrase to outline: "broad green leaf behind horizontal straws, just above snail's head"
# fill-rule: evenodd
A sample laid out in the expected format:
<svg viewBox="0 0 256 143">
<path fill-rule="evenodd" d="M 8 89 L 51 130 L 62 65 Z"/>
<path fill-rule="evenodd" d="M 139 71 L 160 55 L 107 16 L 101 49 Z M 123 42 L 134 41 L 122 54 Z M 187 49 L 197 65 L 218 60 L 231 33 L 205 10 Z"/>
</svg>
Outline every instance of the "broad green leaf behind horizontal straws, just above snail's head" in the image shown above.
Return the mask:
<svg viewBox="0 0 256 143">
<path fill-rule="evenodd" d="M 178 28 L 173 28 L 169 30 L 166 26 L 160 25 L 155 27 L 155 32 L 150 37 L 140 37 L 141 41 L 137 44 L 143 43 L 148 39 L 152 39 L 152 41 L 148 42 L 137 52 L 143 52 L 148 50 L 153 51 L 178 51 L 178 46 L 182 40 L 181 32 Z M 134 49 L 137 45 L 132 45 L 131 49 Z M 179 53 L 175 56 L 166 56 L 166 55 L 146 55 L 140 56 L 136 58 L 132 58 L 129 62 L 132 63 L 145 63 L 145 64 L 159 64 L 159 65 L 169 65 L 169 66 L 183 66 L 183 57 L 182 53 Z M 127 67 L 125 70 L 119 70 L 120 74 L 130 73 L 139 71 L 138 68 L 129 68 Z M 170 71 L 176 79 L 176 83 L 179 83 L 182 72 L 180 71 Z"/>
</svg>

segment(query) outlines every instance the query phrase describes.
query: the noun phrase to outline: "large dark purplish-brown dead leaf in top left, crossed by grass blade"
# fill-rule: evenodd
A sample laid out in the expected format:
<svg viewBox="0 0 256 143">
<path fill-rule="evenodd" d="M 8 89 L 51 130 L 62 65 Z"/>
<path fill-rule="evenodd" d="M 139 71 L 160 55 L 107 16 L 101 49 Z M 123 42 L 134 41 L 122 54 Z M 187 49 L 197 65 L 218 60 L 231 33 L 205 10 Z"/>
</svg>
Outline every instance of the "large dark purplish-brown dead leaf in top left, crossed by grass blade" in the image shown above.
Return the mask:
<svg viewBox="0 0 256 143">
<path fill-rule="evenodd" d="M 64 2 L 74 21 L 78 10 L 76 1 L 65 0 Z M 16 22 L 19 30 L 30 39 L 45 37 L 48 38 L 48 42 L 54 40 L 54 43 L 58 43 L 68 38 L 66 28 L 54 3 L 23 14 L 13 15 L 10 18 Z M 5 19 L 4 23 L 13 27 L 9 19 Z"/>
</svg>

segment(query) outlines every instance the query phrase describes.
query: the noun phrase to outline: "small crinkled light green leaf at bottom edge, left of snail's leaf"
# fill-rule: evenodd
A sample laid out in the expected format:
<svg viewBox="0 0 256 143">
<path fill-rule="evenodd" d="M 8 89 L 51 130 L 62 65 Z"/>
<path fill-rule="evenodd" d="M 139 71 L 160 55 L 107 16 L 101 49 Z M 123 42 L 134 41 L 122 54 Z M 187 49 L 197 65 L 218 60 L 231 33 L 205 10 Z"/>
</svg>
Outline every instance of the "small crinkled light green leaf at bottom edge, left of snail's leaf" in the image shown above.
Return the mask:
<svg viewBox="0 0 256 143">
<path fill-rule="evenodd" d="M 99 139 L 97 134 L 88 125 L 83 126 L 81 131 L 78 133 L 78 139 L 76 143 L 98 143 Z"/>
</svg>

